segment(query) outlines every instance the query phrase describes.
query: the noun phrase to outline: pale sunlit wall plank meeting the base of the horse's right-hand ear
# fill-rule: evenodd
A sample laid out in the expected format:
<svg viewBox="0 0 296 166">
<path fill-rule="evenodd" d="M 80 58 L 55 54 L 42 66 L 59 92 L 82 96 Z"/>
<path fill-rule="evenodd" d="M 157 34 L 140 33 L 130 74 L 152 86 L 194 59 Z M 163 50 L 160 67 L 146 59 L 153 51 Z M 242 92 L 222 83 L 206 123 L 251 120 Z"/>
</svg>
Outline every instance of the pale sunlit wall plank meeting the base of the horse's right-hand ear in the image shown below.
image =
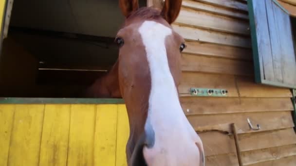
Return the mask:
<svg viewBox="0 0 296 166">
<path fill-rule="evenodd" d="M 188 8 L 181 8 L 181 12 L 175 23 L 225 33 L 250 35 L 248 31 L 249 22 L 247 21 L 240 21 L 238 19 L 213 15 Z"/>
</svg>

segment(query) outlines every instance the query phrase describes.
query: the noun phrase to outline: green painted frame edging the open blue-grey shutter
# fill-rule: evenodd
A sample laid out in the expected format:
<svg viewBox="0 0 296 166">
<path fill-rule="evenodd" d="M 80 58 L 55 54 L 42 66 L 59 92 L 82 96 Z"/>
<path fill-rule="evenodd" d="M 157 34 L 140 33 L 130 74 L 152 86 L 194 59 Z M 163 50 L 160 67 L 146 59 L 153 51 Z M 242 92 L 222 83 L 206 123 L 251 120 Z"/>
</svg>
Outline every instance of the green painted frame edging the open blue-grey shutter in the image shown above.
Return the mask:
<svg viewBox="0 0 296 166">
<path fill-rule="evenodd" d="M 285 13 L 290 15 L 290 13 L 282 7 L 277 0 L 273 0 Z M 261 76 L 260 71 L 260 60 L 259 60 L 259 50 L 258 50 L 258 40 L 257 40 L 257 33 L 256 33 L 256 25 L 255 25 L 255 14 L 253 8 L 253 0 L 247 0 L 248 9 L 249 9 L 249 20 L 250 20 L 250 30 L 251 30 L 251 41 L 252 41 L 252 50 L 253 50 L 253 59 L 254 59 L 254 72 L 255 72 L 255 82 L 260 84 L 266 84 L 270 86 L 277 86 L 277 87 L 285 87 L 290 89 L 296 89 L 296 85 L 291 85 L 287 83 L 279 83 L 275 81 L 268 81 L 264 80 Z M 290 16 L 291 18 L 291 16 Z M 292 22 L 291 22 L 292 24 Z M 291 27 L 292 31 L 292 27 Z M 293 32 L 292 32 L 293 33 Z M 296 40 L 294 39 L 294 46 L 296 46 Z M 295 47 L 296 48 L 296 47 Z M 294 49 L 295 53 L 296 50 Z M 296 56 L 296 55 L 295 55 Z"/>
</svg>

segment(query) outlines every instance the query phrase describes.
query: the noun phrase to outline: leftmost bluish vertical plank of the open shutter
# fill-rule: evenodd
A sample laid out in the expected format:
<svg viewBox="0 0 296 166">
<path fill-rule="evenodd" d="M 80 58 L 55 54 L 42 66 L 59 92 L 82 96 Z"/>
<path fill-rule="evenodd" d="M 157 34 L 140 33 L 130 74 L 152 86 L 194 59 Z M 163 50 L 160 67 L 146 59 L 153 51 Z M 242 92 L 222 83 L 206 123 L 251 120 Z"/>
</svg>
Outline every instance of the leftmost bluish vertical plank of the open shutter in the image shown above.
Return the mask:
<svg viewBox="0 0 296 166">
<path fill-rule="evenodd" d="M 265 0 L 248 0 L 256 82 L 274 81 Z"/>
</svg>

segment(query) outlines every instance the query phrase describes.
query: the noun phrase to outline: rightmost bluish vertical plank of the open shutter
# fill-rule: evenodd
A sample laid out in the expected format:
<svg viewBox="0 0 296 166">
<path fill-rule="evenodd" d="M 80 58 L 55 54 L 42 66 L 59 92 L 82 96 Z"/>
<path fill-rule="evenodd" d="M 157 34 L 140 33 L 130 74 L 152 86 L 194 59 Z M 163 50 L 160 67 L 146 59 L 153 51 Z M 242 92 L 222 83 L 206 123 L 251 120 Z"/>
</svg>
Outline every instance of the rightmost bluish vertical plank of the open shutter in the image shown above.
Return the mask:
<svg viewBox="0 0 296 166">
<path fill-rule="evenodd" d="M 296 56 L 292 38 L 292 27 L 289 14 L 285 13 L 277 4 L 274 3 L 274 12 L 279 28 L 279 42 L 281 45 L 281 66 L 283 82 L 296 84 Z"/>
</svg>

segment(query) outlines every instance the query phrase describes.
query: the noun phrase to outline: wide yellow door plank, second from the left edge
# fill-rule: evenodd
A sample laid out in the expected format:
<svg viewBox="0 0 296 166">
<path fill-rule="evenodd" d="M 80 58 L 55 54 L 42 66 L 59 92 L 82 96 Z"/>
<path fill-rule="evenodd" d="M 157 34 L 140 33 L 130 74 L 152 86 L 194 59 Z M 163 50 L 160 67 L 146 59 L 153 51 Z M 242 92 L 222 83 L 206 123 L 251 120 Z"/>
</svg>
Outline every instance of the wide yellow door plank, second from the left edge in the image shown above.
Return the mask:
<svg viewBox="0 0 296 166">
<path fill-rule="evenodd" d="M 37 166 L 44 105 L 16 105 L 9 166 Z"/>
</svg>

